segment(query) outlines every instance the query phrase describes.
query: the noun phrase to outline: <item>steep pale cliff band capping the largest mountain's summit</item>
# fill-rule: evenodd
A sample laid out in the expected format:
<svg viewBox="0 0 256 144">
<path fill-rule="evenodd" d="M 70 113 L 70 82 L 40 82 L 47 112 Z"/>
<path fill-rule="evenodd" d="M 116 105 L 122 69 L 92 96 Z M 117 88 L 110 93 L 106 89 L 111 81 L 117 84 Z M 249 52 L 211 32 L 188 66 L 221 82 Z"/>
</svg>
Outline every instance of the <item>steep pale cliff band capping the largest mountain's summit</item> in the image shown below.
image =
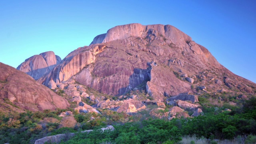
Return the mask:
<svg viewBox="0 0 256 144">
<path fill-rule="evenodd" d="M 109 29 L 106 34 L 96 36 L 91 44 L 110 42 L 129 37 L 147 38 L 151 34 L 169 38 L 174 44 L 182 44 L 184 41 L 192 40 L 190 36 L 171 25 L 154 24 L 144 26 L 142 24 L 126 24 L 115 26 Z"/>
</svg>

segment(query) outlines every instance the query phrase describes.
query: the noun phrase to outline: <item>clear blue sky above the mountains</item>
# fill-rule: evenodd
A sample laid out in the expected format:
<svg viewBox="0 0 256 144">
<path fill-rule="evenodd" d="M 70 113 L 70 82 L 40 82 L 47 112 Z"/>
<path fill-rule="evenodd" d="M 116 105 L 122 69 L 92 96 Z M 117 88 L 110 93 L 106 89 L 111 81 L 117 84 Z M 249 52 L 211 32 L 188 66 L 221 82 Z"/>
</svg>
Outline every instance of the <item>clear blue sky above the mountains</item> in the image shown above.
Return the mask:
<svg viewBox="0 0 256 144">
<path fill-rule="evenodd" d="M 0 62 L 16 68 L 50 50 L 63 59 L 129 23 L 175 26 L 226 68 L 256 82 L 254 0 L 1 0 Z"/>
</svg>

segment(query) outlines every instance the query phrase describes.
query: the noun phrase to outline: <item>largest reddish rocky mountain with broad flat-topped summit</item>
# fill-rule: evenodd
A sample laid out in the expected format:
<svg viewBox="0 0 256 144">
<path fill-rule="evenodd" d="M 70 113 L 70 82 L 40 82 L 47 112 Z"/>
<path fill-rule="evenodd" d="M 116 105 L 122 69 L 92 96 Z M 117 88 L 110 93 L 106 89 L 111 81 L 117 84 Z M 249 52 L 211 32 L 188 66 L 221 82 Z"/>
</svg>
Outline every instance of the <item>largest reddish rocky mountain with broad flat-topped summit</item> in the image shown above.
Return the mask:
<svg viewBox="0 0 256 144">
<path fill-rule="evenodd" d="M 170 25 L 127 24 L 96 36 L 38 82 L 52 88 L 73 78 L 111 95 L 145 88 L 154 99 L 180 93 L 255 93 L 256 85 L 222 66 L 212 54 Z"/>
</svg>

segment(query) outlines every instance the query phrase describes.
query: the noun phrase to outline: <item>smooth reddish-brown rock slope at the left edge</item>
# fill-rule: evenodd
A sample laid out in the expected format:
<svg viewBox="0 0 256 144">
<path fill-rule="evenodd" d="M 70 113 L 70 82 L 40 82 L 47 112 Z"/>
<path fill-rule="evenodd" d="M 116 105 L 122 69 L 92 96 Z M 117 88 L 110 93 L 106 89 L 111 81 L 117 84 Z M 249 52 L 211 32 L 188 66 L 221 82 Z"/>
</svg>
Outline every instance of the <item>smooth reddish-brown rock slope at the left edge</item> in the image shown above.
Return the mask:
<svg viewBox="0 0 256 144">
<path fill-rule="evenodd" d="M 0 72 L 0 98 L 8 98 L 24 110 L 65 109 L 70 105 L 65 98 L 24 72 L 3 63 L 0 63 Z"/>
</svg>

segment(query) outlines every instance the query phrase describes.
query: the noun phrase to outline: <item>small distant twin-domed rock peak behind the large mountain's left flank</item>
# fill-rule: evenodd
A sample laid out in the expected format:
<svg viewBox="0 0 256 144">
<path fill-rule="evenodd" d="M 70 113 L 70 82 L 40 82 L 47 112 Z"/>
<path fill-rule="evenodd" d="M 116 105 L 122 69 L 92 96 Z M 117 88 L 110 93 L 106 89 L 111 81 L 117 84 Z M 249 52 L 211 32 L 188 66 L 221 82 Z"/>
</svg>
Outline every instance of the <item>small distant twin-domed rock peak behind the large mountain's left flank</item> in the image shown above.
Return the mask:
<svg viewBox="0 0 256 144">
<path fill-rule="evenodd" d="M 17 70 L 25 72 L 38 80 L 48 72 L 50 72 L 56 65 L 61 62 L 61 58 L 54 54 L 54 52 L 43 52 L 39 55 L 34 55 L 22 62 L 17 67 Z"/>
</svg>

